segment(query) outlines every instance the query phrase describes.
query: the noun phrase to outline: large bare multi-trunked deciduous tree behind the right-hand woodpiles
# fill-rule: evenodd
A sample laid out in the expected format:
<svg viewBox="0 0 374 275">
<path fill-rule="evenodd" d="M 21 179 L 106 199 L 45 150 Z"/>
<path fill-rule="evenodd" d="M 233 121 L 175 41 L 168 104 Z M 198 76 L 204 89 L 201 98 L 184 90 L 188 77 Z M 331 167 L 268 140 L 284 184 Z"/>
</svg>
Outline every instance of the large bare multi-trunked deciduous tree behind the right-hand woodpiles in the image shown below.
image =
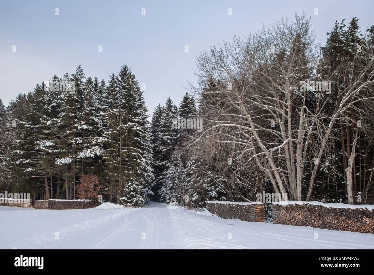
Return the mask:
<svg viewBox="0 0 374 275">
<path fill-rule="evenodd" d="M 196 59 L 199 85 L 191 88 L 200 95 L 204 119 L 195 150 L 213 158 L 222 175 L 227 169 L 245 175 L 239 188 L 250 187 L 251 175 L 255 181 L 265 175 L 276 193 L 309 201 L 322 158 L 333 147 L 335 123 L 352 120 L 347 112 L 359 112 L 356 106 L 372 99 L 368 87 L 374 83 L 373 60 L 357 58 L 341 68 L 347 75 L 359 70 L 355 77 L 331 93 L 334 74 L 321 73 L 323 62 L 305 15 L 202 52 Z M 306 164 L 313 165 L 307 195 Z"/>
</svg>

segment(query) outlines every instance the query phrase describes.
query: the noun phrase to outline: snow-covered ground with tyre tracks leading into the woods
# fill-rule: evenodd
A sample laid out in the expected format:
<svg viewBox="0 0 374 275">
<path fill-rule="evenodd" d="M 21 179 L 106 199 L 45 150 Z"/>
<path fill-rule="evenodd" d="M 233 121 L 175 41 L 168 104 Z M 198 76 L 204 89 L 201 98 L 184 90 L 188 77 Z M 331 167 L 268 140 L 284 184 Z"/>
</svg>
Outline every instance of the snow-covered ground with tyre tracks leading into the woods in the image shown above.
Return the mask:
<svg viewBox="0 0 374 275">
<path fill-rule="evenodd" d="M 374 235 L 225 220 L 160 203 L 106 210 L 0 206 L 0 248 L 374 249 Z"/>
</svg>

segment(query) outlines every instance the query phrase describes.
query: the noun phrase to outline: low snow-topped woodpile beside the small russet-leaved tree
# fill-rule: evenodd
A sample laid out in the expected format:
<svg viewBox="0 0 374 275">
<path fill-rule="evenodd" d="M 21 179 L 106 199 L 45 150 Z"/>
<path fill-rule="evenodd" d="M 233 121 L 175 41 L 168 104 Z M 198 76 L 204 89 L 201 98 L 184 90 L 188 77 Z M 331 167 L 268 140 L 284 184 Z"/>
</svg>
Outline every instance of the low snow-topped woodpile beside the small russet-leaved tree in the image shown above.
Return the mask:
<svg viewBox="0 0 374 275">
<path fill-rule="evenodd" d="M 36 209 L 82 209 L 92 208 L 94 204 L 89 199 L 47 199 L 44 201 L 35 201 Z"/>
</svg>

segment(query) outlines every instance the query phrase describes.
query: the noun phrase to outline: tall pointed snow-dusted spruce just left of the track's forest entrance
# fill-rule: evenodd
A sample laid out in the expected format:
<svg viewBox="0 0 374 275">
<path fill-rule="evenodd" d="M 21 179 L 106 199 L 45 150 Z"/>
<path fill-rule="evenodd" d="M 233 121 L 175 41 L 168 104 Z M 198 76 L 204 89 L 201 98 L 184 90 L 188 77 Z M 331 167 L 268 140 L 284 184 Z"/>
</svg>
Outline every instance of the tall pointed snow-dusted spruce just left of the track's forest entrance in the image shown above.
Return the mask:
<svg viewBox="0 0 374 275">
<path fill-rule="evenodd" d="M 141 196 L 142 205 L 154 179 L 148 110 L 128 66 L 121 67 L 118 77 L 111 76 L 105 102 L 109 107 L 103 114 L 102 141 L 109 191 L 123 204 L 132 204 L 128 198 Z"/>
</svg>

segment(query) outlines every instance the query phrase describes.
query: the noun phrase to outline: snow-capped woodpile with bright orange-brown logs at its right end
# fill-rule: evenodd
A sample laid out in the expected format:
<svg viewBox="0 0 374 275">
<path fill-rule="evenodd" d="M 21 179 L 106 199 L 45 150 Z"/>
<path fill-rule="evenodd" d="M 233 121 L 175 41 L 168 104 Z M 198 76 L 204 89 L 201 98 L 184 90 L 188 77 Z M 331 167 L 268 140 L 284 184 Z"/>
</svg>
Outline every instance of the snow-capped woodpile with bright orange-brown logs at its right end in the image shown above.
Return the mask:
<svg viewBox="0 0 374 275">
<path fill-rule="evenodd" d="M 209 201 L 206 210 L 223 219 L 242 221 L 265 221 L 265 207 L 260 202 Z"/>
</svg>

